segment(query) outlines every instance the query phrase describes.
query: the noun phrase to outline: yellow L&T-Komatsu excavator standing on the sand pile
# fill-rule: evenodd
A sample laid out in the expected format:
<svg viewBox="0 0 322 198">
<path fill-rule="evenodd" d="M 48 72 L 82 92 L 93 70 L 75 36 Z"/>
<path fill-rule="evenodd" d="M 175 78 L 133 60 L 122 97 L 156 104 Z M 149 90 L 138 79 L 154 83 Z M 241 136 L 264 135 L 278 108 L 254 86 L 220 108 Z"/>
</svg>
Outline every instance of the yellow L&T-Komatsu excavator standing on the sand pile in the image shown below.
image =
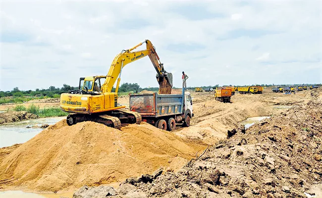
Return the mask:
<svg viewBox="0 0 322 198">
<path fill-rule="evenodd" d="M 147 49 L 133 51 L 143 44 L 146 44 Z M 171 94 L 172 74 L 164 70 L 155 47 L 149 40 L 145 40 L 116 55 L 107 76 L 80 78 L 79 90 L 60 95 L 60 109 L 70 113 L 66 119 L 67 124 L 71 126 L 78 122 L 94 121 L 116 129 L 120 129 L 121 123 L 140 124 L 142 118 L 139 113 L 117 105 L 117 92 L 123 67 L 145 56 L 149 56 L 157 71 L 159 94 Z M 116 79 L 115 92 L 112 92 Z"/>
</svg>

